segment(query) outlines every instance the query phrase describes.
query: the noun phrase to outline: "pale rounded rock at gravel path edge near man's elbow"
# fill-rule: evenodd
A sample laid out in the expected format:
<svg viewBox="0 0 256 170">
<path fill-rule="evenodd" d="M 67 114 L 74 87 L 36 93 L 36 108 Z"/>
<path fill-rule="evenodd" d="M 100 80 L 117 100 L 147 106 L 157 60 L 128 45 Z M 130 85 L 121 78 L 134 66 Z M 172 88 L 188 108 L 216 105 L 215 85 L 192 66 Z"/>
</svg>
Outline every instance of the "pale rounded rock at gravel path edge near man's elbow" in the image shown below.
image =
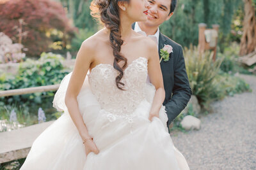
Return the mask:
<svg viewBox="0 0 256 170">
<path fill-rule="evenodd" d="M 189 129 L 199 130 L 201 121 L 196 117 L 188 115 L 183 118 L 183 120 L 180 122 L 180 124 L 186 130 L 189 130 Z"/>
</svg>

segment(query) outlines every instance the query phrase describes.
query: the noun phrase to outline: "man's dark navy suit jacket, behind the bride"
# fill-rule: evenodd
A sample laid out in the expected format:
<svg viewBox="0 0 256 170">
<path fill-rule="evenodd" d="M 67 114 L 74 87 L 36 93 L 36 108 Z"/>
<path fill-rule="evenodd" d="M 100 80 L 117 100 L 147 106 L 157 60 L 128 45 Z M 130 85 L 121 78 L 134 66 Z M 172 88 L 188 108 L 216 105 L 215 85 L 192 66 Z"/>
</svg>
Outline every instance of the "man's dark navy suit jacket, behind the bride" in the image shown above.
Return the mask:
<svg viewBox="0 0 256 170">
<path fill-rule="evenodd" d="M 132 24 L 132 29 L 134 29 L 134 25 Z M 165 90 L 163 105 L 168 115 L 167 126 L 169 126 L 173 119 L 187 106 L 192 91 L 186 73 L 182 46 L 160 32 L 158 45 L 159 59 L 161 58 L 160 50 L 164 45 L 171 45 L 173 48 L 169 60 L 166 62 L 162 60 L 160 64 Z"/>
</svg>

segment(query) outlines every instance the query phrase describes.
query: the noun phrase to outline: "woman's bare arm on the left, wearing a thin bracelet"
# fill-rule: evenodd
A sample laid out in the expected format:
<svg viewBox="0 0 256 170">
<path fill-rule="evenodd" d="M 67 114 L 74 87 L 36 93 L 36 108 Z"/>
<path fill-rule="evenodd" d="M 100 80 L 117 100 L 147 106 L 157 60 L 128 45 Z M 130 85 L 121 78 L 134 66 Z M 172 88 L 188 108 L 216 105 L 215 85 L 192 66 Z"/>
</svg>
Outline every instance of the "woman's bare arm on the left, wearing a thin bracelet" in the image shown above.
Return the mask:
<svg viewBox="0 0 256 170">
<path fill-rule="evenodd" d="M 88 42 L 88 40 L 84 41 L 81 45 L 81 48 L 79 49 L 79 52 L 77 53 L 75 66 L 68 83 L 68 89 L 65 96 L 65 104 L 68 108 L 68 113 L 70 114 L 70 117 L 72 118 L 81 138 L 83 139 L 90 138 L 90 135 L 88 134 L 88 130 L 84 124 L 83 117 L 78 108 L 77 95 L 81 90 L 84 78 L 88 72 L 90 64 L 93 61 L 93 56 L 94 50 L 92 42 Z M 88 143 L 88 145 L 90 145 L 88 148 L 91 148 L 91 150 L 86 148 L 86 154 L 90 151 L 95 153 L 99 152 L 96 146 L 93 146 L 92 141 Z"/>
</svg>

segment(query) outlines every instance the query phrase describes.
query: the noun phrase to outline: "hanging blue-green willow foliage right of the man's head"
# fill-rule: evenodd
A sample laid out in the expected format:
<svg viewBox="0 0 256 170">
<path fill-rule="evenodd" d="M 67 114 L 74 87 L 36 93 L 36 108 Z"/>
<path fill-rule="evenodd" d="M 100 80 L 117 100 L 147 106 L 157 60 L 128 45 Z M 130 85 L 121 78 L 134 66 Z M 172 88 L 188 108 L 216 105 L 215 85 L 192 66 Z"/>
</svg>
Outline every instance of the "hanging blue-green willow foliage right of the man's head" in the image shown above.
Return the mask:
<svg viewBox="0 0 256 170">
<path fill-rule="evenodd" d="M 173 16 L 161 25 L 161 31 L 182 46 L 198 45 L 198 24 L 220 25 L 220 46 L 229 41 L 234 11 L 239 0 L 179 0 Z"/>
</svg>

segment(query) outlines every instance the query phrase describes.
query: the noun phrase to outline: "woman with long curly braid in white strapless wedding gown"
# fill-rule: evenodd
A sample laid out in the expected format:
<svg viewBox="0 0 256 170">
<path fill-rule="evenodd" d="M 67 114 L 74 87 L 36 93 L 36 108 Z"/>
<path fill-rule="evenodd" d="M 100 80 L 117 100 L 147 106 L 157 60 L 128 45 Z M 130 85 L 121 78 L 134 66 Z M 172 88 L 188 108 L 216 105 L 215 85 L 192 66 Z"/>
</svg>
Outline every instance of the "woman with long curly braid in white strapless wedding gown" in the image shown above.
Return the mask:
<svg viewBox="0 0 256 170">
<path fill-rule="evenodd" d="M 157 46 L 131 29 L 147 19 L 147 7 L 146 0 L 92 1 L 105 27 L 82 43 L 54 96 L 64 113 L 36 138 L 22 170 L 189 169 L 166 129 Z"/>
</svg>

